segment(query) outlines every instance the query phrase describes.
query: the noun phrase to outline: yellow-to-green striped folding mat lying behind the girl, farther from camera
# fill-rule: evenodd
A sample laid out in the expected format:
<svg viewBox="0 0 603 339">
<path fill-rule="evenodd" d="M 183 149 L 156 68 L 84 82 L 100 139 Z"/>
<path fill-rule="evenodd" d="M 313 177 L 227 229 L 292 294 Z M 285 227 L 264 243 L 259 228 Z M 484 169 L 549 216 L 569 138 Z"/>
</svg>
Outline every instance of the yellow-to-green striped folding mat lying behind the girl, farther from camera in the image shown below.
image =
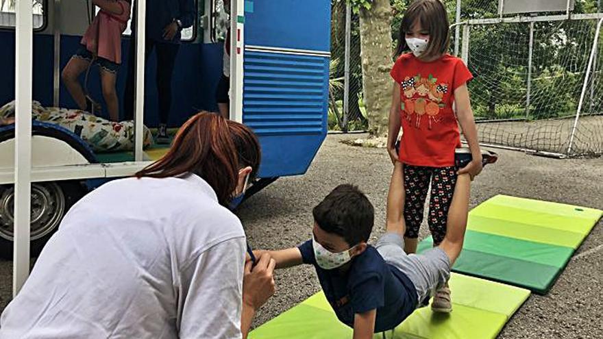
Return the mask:
<svg viewBox="0 0 603 339">
<path fill-rule="evenodd" d="M 498 195 L 469 212 L 453 271 L 545 294 L 603 211 Z M 419 253 L 433 246 L 419 244 Z"/>
</svg>

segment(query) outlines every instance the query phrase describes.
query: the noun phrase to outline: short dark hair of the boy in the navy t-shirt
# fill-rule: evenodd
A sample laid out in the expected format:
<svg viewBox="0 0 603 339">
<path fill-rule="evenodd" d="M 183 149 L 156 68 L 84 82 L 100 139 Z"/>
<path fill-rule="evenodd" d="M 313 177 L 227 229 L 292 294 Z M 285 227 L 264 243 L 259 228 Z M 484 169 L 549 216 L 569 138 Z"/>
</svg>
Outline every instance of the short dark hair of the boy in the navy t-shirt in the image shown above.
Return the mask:
<svg viewBox="0 0 603 339">
<path fill-rule="evenodd" d="M 375 218 L 371 201 L 356 186 L 337 186 L 312 210 L 314 221 L 328 233 L 342 236 L 349 246 L 367 242 Z"/>
</svg>

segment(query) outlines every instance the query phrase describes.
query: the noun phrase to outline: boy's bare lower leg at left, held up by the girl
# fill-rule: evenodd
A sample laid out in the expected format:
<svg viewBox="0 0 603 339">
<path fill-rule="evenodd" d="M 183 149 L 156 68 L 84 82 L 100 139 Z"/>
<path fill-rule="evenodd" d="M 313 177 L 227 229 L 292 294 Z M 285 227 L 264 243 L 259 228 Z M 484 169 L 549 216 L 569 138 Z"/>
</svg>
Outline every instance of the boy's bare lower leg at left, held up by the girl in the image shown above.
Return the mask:
<svg viewBox="0 0 603 339">
<path fill-rule="evenodd" d="M 404 166 L 396 162 L 393 167 L 389 192 L 387 194 L 386 231 L 395 232 L 404 236 L 406 224 L 404 223 Z"/>
</svg>

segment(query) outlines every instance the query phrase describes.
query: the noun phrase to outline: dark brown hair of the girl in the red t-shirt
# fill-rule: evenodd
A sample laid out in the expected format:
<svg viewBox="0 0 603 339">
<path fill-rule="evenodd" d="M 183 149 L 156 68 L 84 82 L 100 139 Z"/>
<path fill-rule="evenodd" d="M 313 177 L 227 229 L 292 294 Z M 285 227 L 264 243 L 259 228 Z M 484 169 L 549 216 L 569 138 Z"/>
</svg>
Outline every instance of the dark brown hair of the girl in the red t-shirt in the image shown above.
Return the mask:
<svg viewBox="0 0 603 339">
<path fill-rule="evenodd" d="M 430 35 L 429 44 L 421 58 L 429 59 L 446 53 L 450 47 L 450 24 L 444 4 L 441 0 L 415 0 L 410 3 L 402 18 L 394 57 L 408 51 L 406 32 L 410 32 L 417 21 Z"/>
</svg>

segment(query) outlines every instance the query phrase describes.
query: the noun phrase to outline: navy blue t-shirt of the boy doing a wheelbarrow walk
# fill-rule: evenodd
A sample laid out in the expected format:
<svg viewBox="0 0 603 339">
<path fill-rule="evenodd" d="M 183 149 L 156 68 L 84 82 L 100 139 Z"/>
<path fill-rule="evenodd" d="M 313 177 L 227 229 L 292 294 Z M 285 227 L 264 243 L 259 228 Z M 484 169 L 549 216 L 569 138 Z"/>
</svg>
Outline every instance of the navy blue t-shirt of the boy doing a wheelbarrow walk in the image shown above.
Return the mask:
<svg viewBox="0 0 603 339">
<path fill-rule="evenodd" d="M 299 245 L 299 251 L 304 264 L 315 266 L 325 297 L 337 318 L 349 327 L 354 327 L 354 314 L 376 309 L 375 332 L 393 329 L 417 307 L 417 290 L 410 279 L 370 245 L 352 258 L 346 272 L 318 266 L 312 240 Z"/>
</svg>

